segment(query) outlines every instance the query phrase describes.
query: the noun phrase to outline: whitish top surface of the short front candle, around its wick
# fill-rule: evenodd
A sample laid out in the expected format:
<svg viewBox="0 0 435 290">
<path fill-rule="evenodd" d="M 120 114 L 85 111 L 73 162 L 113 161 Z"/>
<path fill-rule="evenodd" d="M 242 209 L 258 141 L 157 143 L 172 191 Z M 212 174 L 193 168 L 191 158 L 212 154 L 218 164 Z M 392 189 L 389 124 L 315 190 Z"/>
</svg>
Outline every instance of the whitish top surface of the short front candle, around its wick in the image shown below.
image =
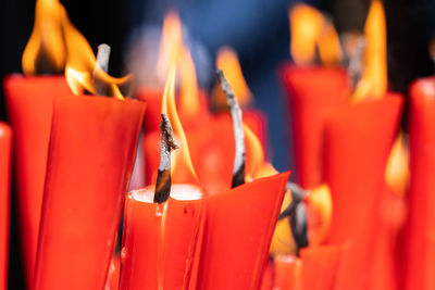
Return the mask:
<svg viewBox="0 0 435 290">
<path fill-rule="evenodd" d="M 129 196 L 136 201 L 153 203 L 154 187 L 151 186 L 133 190 Z M 172 185 L 170 197 L 179 201 L 200 200 L 203 197 L 203 192 L 194 185 Z"/>
</svg>

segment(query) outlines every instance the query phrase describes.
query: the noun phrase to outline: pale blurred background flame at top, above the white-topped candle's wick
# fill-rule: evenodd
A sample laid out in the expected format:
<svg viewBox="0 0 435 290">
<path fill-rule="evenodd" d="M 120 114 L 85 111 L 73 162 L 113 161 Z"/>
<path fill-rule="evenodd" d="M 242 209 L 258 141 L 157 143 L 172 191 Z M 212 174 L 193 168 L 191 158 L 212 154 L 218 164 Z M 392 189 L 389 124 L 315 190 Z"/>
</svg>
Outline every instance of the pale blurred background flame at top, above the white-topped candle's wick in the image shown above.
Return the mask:
<svg viewBox="0 0 435 290">
<path fill-rule="evenodd" d="M 160 39 L 157 73 L 164 79 L 171 65 L 178 63 L 183 51 L 182 22 L 175 12 L 169 12 L 163 20 L 162 37 Z"/>
</svg>

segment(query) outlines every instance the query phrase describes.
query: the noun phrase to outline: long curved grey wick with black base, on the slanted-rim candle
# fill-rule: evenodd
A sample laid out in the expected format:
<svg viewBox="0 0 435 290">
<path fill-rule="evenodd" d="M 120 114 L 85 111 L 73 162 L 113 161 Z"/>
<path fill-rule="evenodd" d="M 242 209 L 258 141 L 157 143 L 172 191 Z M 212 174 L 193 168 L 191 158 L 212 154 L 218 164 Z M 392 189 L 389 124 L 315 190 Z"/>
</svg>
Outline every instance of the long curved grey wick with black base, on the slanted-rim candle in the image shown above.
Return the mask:
<svg viewBox="0 0 435 290">
<path fill-rule="evenodd" d="M 245 136 L 241 121 L 241 109 L 238 105 L 236 96 L 229 83 L 226 80 L 222 70 L 216 70 L 219 84 L 226 96 L 226 102 L 229 106 L 229 113 L 233 119 L 234 139 L 236 153 L 234 156 L 233 182 L 232 188 L 245 184 Z"/>
</svg>

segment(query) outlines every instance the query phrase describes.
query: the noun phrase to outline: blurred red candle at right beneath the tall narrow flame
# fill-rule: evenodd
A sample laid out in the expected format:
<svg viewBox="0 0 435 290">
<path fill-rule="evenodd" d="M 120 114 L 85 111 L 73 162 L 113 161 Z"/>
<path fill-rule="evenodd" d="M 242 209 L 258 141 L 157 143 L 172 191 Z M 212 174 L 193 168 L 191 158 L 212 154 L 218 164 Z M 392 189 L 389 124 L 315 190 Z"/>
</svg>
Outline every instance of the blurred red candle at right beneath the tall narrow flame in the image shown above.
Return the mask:
<svg viewBox="0 0 435 290">
<path fill-rule="evenodd" d="M 401 96 L 389 93 L 344 105 L 326 122 L 324 175 L 334 207 L 327 240 L 348 245 L 336 289 L 368 286 L 384 172 L 401 108 Z"/>
</svg>

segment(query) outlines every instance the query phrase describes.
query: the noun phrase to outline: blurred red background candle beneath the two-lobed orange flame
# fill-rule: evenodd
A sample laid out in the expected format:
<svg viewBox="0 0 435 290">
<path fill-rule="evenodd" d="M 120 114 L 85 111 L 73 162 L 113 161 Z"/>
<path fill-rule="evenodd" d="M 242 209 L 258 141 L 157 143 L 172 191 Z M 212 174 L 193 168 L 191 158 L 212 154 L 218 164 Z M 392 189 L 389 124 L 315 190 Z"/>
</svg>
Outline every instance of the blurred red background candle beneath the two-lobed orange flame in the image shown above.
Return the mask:
<svg viewBox="0 0 435 290">
<path fill-rule="evenodd" d="M 293 129 L 295 172 L 303 188 L 322 184 L 321 149 L 327 114 L 350 96 L 346 71 L 338 67 L 298 67 L 281 71 L 288 97 Z"/>
</svg>

